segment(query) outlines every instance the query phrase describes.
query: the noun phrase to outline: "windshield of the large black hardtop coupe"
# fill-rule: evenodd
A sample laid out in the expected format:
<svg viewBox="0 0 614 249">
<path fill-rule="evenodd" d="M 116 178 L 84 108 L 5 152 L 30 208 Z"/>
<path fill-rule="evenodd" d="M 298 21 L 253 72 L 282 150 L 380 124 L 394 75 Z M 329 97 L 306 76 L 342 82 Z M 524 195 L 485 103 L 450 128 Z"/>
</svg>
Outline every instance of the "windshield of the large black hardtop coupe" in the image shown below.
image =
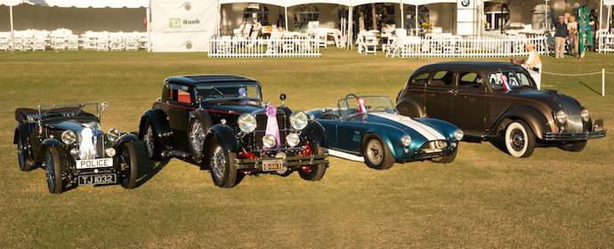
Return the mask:
<svg viewBox="0 0 614 249">
<path fill-rule="evenodd" d="M 262 100 L 257 84 L 200 84 L 196 88 L 203 100 Z"/>
</svg>

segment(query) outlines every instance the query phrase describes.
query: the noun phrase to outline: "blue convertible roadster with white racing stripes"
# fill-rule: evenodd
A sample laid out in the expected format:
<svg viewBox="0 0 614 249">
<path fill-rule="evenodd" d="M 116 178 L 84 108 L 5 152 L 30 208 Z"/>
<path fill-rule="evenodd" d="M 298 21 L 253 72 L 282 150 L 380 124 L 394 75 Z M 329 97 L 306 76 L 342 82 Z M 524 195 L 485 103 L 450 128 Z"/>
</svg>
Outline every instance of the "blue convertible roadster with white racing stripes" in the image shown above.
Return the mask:
<svg viewBox="0 0 614 249">
<path fill-rule="evenodd" d="M 308 112 L 327 132 L 328 155 L 365 162 L 379 170 L 394 163 L 432 160 L 451 163 L 463 131 L 432 118 L 400 116 L 384 96 L 348 94 L 337 108 Z"/>
</svg>

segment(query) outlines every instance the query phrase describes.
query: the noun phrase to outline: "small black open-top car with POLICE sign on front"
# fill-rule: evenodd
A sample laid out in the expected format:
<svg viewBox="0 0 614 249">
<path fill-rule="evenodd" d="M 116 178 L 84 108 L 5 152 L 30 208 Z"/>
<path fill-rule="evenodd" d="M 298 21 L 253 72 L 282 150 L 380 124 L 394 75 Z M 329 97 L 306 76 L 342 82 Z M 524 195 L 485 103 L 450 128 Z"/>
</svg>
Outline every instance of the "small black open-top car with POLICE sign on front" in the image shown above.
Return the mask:
<svg viewBox="0 0 614 249">
<path fill-rule="evenodd" d="M 13 142 L 21 171 L 43 165 L 49 191 L 58 194 L 77 185 L 119 182 L 136 185 L 136 136 L 110 128 L 101 131 L 103 102 L 17 108 Z"/>
</svg>

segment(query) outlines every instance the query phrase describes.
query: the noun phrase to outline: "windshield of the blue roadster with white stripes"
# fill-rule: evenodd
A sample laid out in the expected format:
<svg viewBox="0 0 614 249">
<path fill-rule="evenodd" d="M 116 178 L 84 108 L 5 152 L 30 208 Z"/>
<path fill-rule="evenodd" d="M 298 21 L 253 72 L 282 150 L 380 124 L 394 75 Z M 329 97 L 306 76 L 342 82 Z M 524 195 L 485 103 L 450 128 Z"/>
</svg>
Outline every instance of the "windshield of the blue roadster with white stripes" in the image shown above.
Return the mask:
<svg viewBox="0 0 614 249">
<path fill-rule="evenodd" d="M 359 112 L 395 112 L 392 100 L 385 96 L 351 96 L 339 100 L 337 105 L 343 116 Z"/>
</svg>

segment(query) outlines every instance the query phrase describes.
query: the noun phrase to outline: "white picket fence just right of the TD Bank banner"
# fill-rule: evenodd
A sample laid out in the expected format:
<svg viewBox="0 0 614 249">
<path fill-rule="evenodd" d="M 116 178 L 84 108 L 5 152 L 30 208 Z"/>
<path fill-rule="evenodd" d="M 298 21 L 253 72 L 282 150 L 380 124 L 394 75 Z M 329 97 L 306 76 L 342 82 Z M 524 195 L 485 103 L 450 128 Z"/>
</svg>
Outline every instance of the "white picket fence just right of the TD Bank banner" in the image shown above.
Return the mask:
<svg viewBox="0 0 614 249">
<path fill-rule="evenodd" d="M 209 39 L 209 57 L 319 57 L 318 40 L 312 37 L 214 36 Z"/>
</svg>

